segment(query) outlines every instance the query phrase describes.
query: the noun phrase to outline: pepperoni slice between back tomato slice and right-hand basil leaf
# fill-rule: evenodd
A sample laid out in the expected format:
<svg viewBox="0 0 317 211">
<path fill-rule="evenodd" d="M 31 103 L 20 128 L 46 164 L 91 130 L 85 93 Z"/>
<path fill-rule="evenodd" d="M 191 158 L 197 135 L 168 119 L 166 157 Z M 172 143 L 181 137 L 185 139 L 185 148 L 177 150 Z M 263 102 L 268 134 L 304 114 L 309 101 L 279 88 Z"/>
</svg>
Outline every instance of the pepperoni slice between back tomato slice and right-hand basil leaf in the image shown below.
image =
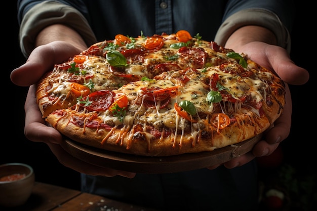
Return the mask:
<svg viewBox="0 0 317 211">
<path fill-rule="evenodd" d="M 206 63 L 207 54 L 203 48 L 182 47 L 178 52 L 186 63 L 191 64 L 191 68 L 200 69 Z"/>
</svg>

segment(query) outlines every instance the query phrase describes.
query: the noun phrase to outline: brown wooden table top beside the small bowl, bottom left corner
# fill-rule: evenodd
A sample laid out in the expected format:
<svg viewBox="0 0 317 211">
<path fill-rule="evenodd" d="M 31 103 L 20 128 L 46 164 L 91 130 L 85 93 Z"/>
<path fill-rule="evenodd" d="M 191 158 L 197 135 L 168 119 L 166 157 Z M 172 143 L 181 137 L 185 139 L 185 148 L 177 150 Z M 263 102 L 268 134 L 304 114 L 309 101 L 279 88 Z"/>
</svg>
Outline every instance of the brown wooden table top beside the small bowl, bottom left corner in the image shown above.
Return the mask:
<svg viewBox="0 0 317 211">
<path fill-rule="evenodd" d="M 25 204 L 4 208 L 8 211 L 157 211 L 108 199 L 99 195 L 83 193 L 64 187 L 35 182 L 32 194 Z"/>
</svg>

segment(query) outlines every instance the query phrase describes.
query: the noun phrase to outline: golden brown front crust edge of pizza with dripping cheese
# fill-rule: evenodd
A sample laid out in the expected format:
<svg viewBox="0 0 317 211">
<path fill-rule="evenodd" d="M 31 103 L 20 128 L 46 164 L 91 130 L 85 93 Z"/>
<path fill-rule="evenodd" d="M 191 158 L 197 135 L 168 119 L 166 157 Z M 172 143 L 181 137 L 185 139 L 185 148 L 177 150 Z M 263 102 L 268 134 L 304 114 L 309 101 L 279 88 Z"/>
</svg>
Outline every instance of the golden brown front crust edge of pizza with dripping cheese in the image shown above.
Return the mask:
<svg viewBox="0 0 317 211">
<path fill-rule="evenodd" d="M 60 115 L 51 114 L 47 121 L 51 123 L 58 131 L 67 136 L 71 140 L 86 144 L 88 146 L 105 149 L 109 151 L 122 152 L 127 154 L 136 154 L 144 156 L 172 156 L 184 153 L 195 153 L 203 151 L 213 151 L 231 144 L 236 144 L 264 132 L 270 125 L 268 119 L 255 117 L 257 124 L 246 116 L 233 125 L 223 129 L 220 134 L 214 130 L 210 133 L 208 139 L 199 141 L 192 140 L 188 135 L 169 136 L 163 139 L 155 139 L 149 134 L 142 132 L 128 132 L 124 138 L 118 138 L 122 131 L 116 129 L 112 135 L 107 138 L 103 144 L 101 143 L 110 131 L 91 128 L 80 128 L 69 123 L 70 114 L 66 114 L 62 118 Z M 248 121 L 249 119 L 249 121 Z M 85 132 L 84 132 L 85 131 Z M 225 134 L 230 134 L 230 137 Z M 190 139 L 190 140 L 189 140 Z"/>
</svg>

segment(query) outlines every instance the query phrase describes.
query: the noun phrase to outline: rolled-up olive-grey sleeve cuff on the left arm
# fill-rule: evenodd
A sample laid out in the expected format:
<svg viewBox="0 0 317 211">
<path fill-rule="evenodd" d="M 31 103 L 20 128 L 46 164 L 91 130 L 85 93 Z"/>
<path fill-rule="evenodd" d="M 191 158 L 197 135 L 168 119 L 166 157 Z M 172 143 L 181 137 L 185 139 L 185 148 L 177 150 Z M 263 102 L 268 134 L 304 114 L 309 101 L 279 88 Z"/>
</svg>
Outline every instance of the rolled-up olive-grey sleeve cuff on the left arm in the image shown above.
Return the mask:
<svg viewBox="0 0 317 211">
<path fill-rule="evenodd" d="M 58 2 L 44 1 L 30 8 L 21 21 L 19 40 L 25 57 L 34 49 L 37 34 L 52 24 L 64 24 L 73 28 L 81 34 L 88 46 L 96 43 L 88 21 L 79 11 Z"/>
</svg>

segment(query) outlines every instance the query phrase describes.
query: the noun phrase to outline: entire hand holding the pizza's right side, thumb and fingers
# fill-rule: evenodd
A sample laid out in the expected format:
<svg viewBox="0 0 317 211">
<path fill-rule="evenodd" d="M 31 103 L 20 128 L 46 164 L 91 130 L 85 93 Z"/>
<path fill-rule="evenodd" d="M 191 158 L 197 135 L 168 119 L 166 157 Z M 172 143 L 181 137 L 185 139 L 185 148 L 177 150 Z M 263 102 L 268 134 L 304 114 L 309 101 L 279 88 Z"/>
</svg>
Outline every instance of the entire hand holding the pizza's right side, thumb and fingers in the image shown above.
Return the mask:
<svg viewBox="0 0 317 211">
<path fill-rule="evenodd" d="M 292 100 L 287 83 L 303 85 L 309 78 L 307 70 L 295 65 L 287 51 L 281 47 L 254 41 L 236 48 L 234 51 L 247 53 L 248 58 L 274 70 L 286 82 L 286 104 L 283 114 L 263 134 L 262 139 L 253 147 L 252 151 L 223 163 L 227 168 L 244 165 L 255 157 L 270 155 L 288 137 L 291 129 Z M 218 166 L 213 165 L 208 168 L 214 169 Z"/>
</svg>

